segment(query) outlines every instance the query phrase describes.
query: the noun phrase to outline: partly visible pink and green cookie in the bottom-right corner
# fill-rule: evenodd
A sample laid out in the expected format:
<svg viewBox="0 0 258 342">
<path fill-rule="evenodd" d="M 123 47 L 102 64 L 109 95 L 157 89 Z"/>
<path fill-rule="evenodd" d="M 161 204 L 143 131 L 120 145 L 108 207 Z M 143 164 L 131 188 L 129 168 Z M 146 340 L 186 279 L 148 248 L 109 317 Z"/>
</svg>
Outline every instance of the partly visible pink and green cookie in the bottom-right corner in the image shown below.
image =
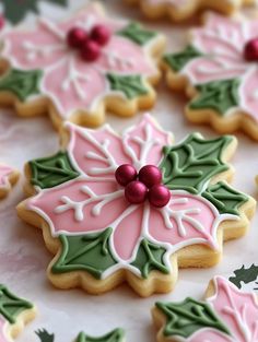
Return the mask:
<svg viewBox="0 0 258 342">
<path fill-rule="evenodd" d="M 238 290 L 216 276 L 204 300 L 157 303 L 153 320 L 159 342 L 257 342 L 258 302 L 254 293 Z"/>
</svg>

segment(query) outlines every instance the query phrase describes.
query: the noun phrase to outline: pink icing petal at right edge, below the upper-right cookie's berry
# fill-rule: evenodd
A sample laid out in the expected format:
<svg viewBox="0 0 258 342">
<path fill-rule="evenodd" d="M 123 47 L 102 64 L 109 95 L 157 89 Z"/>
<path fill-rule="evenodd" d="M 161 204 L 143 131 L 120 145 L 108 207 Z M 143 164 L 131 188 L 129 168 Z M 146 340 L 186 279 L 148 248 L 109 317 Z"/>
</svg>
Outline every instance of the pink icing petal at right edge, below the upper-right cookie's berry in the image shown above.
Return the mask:
<svg viewBox="0 0 258 342">
<path fill-rule="evenodd" d="M 239 89 L 241 108 L 258 121 L 258 69 L 254 67 L 243 79 Z"/>
</svg>

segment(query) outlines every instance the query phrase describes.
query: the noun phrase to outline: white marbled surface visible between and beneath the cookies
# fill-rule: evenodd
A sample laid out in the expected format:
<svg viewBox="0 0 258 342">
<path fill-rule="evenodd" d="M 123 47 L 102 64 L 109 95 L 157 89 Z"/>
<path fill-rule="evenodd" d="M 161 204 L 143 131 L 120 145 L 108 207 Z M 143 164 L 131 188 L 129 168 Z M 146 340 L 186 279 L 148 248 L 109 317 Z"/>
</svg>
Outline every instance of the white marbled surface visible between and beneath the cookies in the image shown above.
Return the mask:
<svg viewBox="0 0 258 342">
<path fill-rule="evenodd" d="M 85 3 L 81 0 L 70 2 L 72 3 L 70 11 Z M 103 2 L 114 16 L 143 21 L 137 9 L 129 9 L 121 0 Z M 68 14 L 67 10 L 54 9 L 46 3 L 43 3 L 42 11 L 51 17 L 62 19 Z M 33 20 L 33 16 L 28 17 L 28 22 Z M 168 22 L 146 24 L 167 35 L 168 50 L 184 46 L 187 25 L 176 26 Z M 215 137 L 211 129 L 191 126 L 186 121 L 183 114 L 184 96 L 173 95 L 164 84 L 160 84 L 157 93 L 159 101 L 152 114 L 163 127 L 175 133 L 176 141 L 192 131 L 200 131 L 207 138 Z M 140 114 L 126 120 L 108 115 L 107 121 L 121 130 L 139 118 Z M 236 168 L 233 184 L 237 189 L 257 199 L 254 178 L 258 174 L 258 143 L 243 134 L 237 134 L 237 138 L 239 146 L 232 161 Z M 47 117 L 22 119 L 13 110 L 0 110 L 1 161 L 22 170 L 26 161 L 51 155 L 57 150 L 58 135 Z M 38 307 L 37 318 L 27 326 L 17 339 L 19 342 L 38 341 L 34 334 L 38 328 L 55 332 L 55 342 L 71 342 L 81 330 L 99 335 L 116 327 L 126 329 L 129 342 L 154 342 L 155 330 L 152 327 L 150 308 L 156 300 L 180 300 L 188 295 L 200 298 L 213 275 L 228 276 L 243 263 L 247 266 L 258 263 L 258 215 L 256 215 L 246 237 L 224 245 L 224 258 L 218 267 L 209 270 L 179 271 L 179 281 L 174 293 L 142 299 L 127 285 L 98 297 L 90 296 L 80 290 L 67 292 L 55 290 L 46 278 L 46 268 L 51 255 L 44 246 L 40 231 L 25 225 L 15 214 L 15 205 L 24 197 L 23 180 L 23 178 L 20 180 L 8 200 L 0 203 L 0 282 L 35 302 Z"/>
</svg>

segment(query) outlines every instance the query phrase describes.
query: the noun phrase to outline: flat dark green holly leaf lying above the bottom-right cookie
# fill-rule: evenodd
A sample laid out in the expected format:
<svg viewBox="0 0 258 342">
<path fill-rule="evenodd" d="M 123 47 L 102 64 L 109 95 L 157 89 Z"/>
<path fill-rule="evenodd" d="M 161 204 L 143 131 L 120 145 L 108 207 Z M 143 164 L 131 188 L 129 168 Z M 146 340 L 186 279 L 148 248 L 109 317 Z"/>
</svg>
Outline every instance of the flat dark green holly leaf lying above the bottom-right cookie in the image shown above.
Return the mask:
<svg viewBox="0 0 258 342">
<path fill-rule="evenodd" d="M 258 290 L 258 266 L 255 263 L 250 268 L 245 268 L 244 264 L 239 270 L 234 271 L 234 276 L 230 278 L 230 281 L 238 288 L 242 288 L 242 282 L 249 284 L 254 282 L 254 290 Z"/>
</svg>

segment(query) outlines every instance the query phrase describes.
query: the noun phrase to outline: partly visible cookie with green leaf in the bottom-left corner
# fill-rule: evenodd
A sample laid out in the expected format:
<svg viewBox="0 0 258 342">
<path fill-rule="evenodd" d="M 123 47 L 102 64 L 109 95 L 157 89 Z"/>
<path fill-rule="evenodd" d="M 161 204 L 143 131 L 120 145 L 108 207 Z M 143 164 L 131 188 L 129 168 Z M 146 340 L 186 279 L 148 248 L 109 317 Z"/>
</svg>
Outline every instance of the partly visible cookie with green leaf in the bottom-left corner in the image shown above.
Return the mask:
<svg viewBox="0 0 258 342">
<path fill-rule="evenodd" d="M 0 341 L 12 342 L 24 326 L 34 319 L 36 309 L 0 284 Z"/>
</svg>

